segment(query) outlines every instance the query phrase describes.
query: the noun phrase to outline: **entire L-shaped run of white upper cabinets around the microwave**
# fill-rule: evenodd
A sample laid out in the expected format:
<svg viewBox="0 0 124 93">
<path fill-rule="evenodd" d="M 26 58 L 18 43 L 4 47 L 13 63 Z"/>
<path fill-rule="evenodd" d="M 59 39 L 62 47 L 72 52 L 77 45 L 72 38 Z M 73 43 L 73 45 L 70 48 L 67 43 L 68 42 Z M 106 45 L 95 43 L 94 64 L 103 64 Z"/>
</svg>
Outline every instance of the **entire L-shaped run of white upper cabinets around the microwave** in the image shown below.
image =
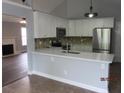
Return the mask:
<svg viewBox="0 0 124 93">
<path fill-rule="evenodd" d="M 56 27 L 66 28 L 66 36 L 93 36 L 96 27 L 114 27 L 114 18 L 67 20 L 34 12 L 34 38 L 56 37 Z"/>
</svg>

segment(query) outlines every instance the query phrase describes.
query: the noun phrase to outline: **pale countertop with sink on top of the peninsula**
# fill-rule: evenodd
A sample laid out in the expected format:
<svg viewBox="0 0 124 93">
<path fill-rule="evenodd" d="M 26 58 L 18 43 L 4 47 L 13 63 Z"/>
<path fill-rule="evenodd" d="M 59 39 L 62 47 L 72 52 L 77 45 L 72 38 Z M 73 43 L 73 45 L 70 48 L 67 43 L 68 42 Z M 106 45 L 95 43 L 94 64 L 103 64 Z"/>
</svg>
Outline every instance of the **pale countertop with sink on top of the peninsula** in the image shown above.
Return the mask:
<svg viewBox="0 0 124 93">
<path fill-rule="evenodd" d="M 43 48 L 37 49 L 33 53 L 39 53 L 50 56 L 65 57 L 65 58 L 74 58 L 84 61 L 94 61 L 94 62 L 103 62 L 103 63 L 112 63 L 114 55 L 105 54 L 105 53 L 93 53 L 93 52 L 80 52 L 80 54 L 72 53 L 63 53 L 61 48 Z"/>
</svg>

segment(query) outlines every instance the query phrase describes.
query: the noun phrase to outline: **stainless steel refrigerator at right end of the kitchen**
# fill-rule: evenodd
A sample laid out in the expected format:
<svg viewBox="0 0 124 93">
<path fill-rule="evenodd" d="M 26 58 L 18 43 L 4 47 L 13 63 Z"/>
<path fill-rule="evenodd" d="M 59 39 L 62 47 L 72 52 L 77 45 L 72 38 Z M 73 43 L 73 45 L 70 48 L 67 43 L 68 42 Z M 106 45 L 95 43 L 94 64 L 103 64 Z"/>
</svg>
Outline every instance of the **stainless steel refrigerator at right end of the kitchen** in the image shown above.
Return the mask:
<svg viewBox="0 0 124 93">
<path fill-rule="evenodd" d="M 111 52 L 112 28 L 95 28 L 93 30 L 93 52 Z"/>
</svg>

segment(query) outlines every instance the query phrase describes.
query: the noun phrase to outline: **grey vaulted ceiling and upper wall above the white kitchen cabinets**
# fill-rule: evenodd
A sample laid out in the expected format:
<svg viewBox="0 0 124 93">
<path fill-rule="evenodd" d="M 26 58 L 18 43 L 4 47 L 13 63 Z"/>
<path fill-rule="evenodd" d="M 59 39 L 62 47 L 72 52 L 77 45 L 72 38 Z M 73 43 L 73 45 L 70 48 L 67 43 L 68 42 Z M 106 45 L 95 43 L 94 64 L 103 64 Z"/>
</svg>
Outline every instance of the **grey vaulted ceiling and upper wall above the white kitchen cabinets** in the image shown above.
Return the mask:
<svg viewBox="0 0 124 93">
<path fill-rule="evenodd" d="M 10 0 L 22 3 L 21 0 Z M 90 0 L 26 0 L 32 1 L 32 8 L 41 12 L 64 18 L 85 18 L 89 12 Z M 121 0 L 93 0 L 93 11 L 98 17 L 115 17 L 121 19 Z"/>
</svg>

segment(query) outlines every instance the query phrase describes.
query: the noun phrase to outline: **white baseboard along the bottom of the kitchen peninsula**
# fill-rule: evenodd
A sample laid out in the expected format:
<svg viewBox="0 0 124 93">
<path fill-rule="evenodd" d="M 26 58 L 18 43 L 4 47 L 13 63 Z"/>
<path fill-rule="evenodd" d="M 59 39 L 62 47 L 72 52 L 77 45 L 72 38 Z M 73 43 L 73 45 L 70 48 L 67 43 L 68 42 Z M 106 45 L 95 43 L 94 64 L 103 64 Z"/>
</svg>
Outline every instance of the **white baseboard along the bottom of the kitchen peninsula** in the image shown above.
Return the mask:
<svg viewBox="0 0 124 93">
<path fill-rule="evenodd" d="M 42 73 L 42 72 L 32 71 L 32 74 L 43 76 L 43 77 L 46 77 L 46 78 L 50 78 L 50 79 L 60 81 L 60 82 L 63 82 L 63 83 L 67 83 L 67 84 L 70 84 L 70 85 L 74 85 L 74 86 L 77 86 L 77 87 L 80 87 L 80 88 L 88 89 L 88 90 L 91 90 L 91 91 L 94 91 L 94 92 L 108 93 L 108 90 L 105 90 L 105 89 L 97 88 L 97 87 L 94 87 L 94 86 L 91 86 L 91 85 L 71 81 L 71 80 L 68 80 L 68 79 L 60 78 L 60 77 L 56 77 L 56 76 L 53 76 L 53 75 L 50 75 L 50 74 L 45 74 L 45 73 Z"/>
</svg>

